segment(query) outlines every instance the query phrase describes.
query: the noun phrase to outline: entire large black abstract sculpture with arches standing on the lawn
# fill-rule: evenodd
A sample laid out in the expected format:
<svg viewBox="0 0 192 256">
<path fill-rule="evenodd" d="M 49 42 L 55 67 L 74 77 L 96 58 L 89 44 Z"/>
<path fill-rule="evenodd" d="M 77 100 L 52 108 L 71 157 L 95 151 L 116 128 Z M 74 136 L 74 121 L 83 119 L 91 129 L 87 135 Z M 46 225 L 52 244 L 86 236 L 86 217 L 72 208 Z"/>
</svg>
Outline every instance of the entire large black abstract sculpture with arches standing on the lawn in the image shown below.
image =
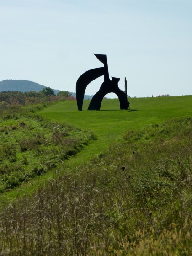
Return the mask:
<svg viewBox="0 0 192 256">
<path fill-rule="evenodd" d="M 97 59 L 99 59 L 104 67 L 90 69 L 83 73 L 77 80 L 76 83 L 76 99 L 77 99 L 77 107 L 78 110 L 82 110 L 83 107 L 83 98 L 85 95 L 86 87 L 89 83 L 91 83 L 96 78 L 104 75 L 104 82 L 102 83 L 99 91 L 93 96 L 88 110 L 100 110 L 101 102 L 104 96 L 110 92 L 115 93 L 120 102 L 120 109 L 127 109 L 127 80 L 125 78 L 125 91 L 122 91 L 118 87 L 118 82 L 120 78 L 112 77 L 112 80 L 109 79 L 109 71 L 107 64 L 107 56 L 105 54 L 94 54 Z"/>
</svg>

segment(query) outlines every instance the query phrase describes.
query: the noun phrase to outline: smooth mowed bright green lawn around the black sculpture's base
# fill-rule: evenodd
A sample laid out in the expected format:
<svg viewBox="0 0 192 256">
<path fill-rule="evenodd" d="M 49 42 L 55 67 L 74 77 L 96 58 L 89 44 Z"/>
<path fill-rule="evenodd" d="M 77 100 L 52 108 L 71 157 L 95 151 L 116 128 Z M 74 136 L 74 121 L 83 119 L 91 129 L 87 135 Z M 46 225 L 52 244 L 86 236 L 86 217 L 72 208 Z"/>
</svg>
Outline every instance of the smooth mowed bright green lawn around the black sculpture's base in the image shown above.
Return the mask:
<svg viewBox="0 0 192 256">
<path fill-rule="evenodd" d="M 48 120 L 57 120 L 92 130 L 98 137 L 75 158 L 74 165 L 105 152 L 109 145 L 121 138 L 126 131 L 158 124 L 170 118 L 192 117 L 192 95 L 130 98 L 130 110 L 120 110 L 118 99 L 104 99 L 100 111 L 77 110 L 76 101 L 64 101 L 39 112 Z"/>
</svg>

